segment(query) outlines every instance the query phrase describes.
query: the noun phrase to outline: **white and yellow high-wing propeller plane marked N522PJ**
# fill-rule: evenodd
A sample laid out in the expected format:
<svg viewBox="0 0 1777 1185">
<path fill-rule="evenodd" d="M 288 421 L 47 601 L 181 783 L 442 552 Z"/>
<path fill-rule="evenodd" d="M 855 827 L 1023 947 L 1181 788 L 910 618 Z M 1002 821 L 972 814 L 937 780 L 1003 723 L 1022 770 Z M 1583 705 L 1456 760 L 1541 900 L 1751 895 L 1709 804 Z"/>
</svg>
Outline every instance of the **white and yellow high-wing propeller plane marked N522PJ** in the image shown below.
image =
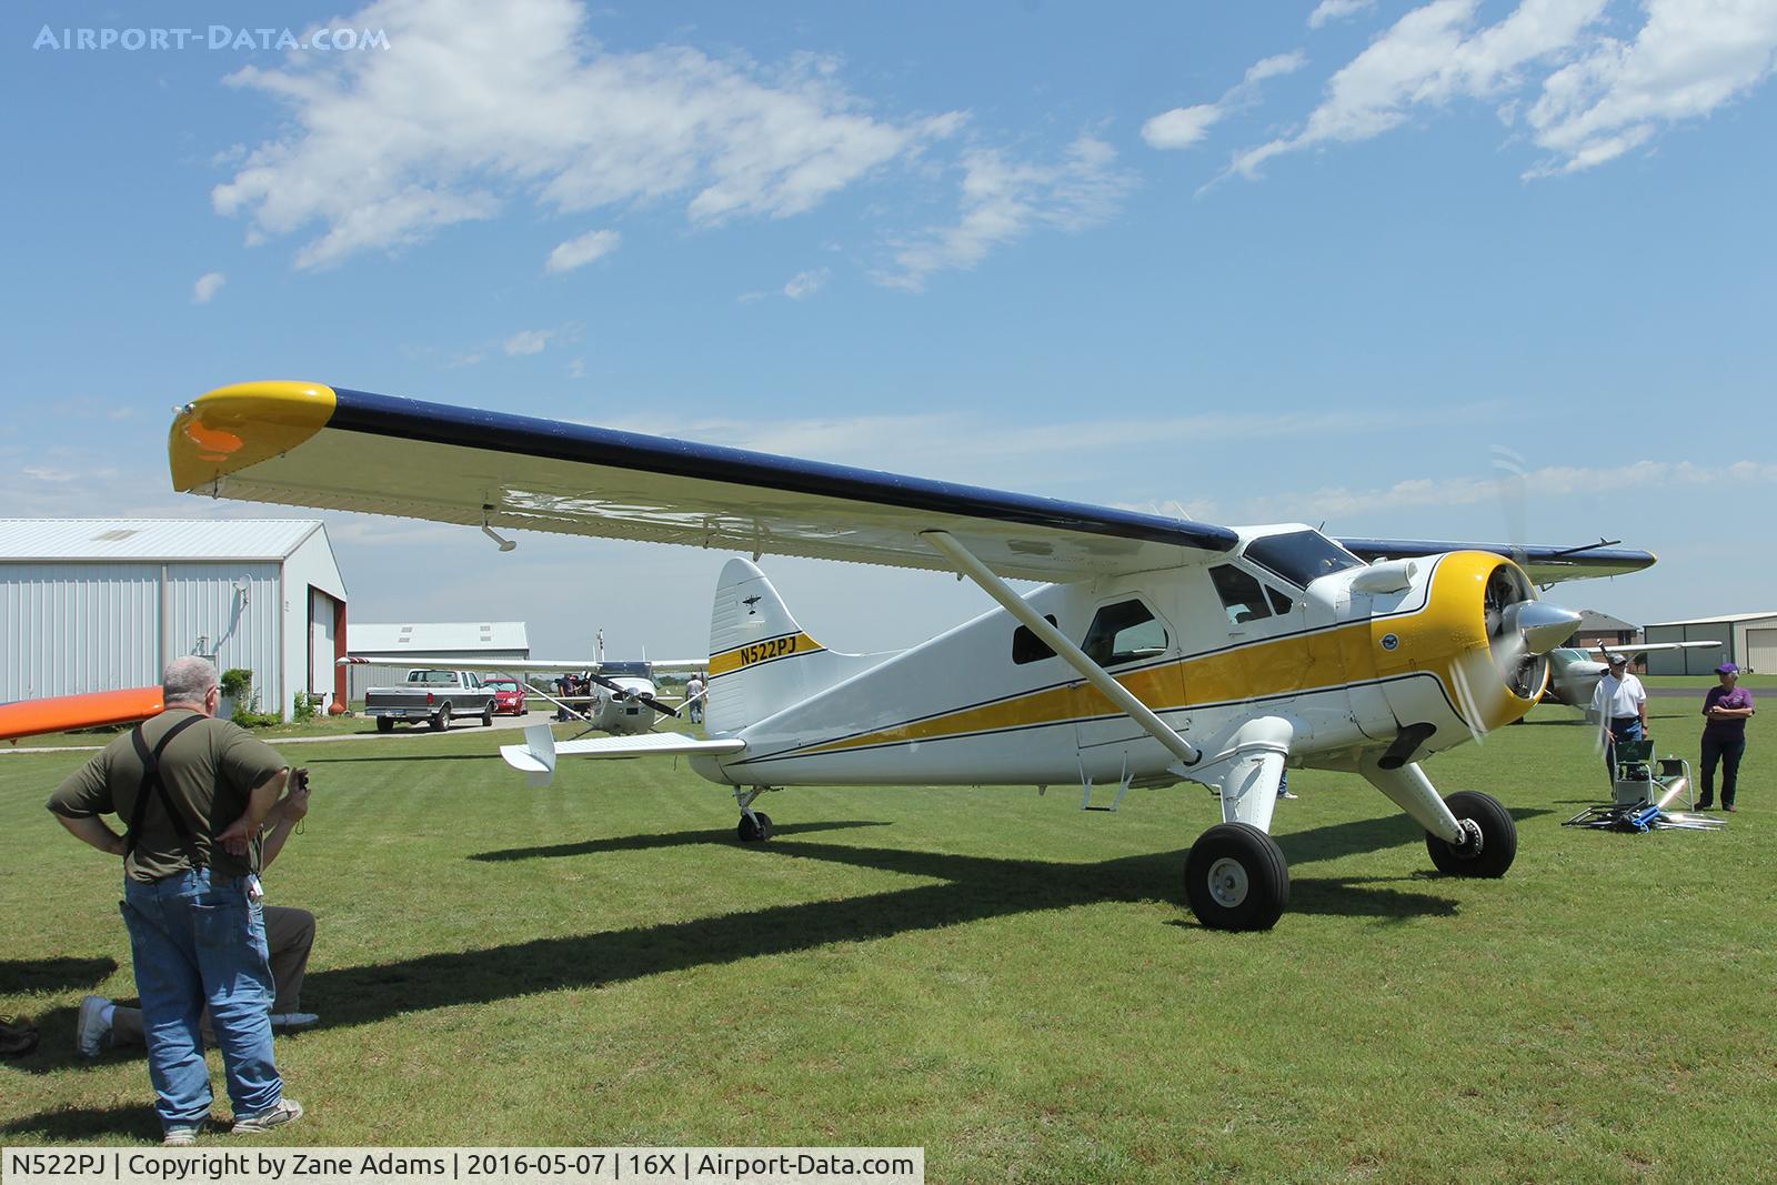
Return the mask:
<svg viewBox="0 0 1777 1185">
<path fill-rule="evenodd" d="M 1654 561 L 1210 526 L 297 382 L 197 398 L 169 453 L 194 494 L 967 576 L 999 609 L 853 656 L 729 560 L 707 737 L 533 728 L 505 757 L 542 782 L 563 755 L 689 753 L 732 789 L 743 839 L 769 835 L 752 805 L 785 785 L 1199 782 L 1223 823 L 1192 846 L 1185 895 L 1221 929 L 1271 927 L 1288 903 L 1269 835 L 1285 766 L 1358 771 L 1425 828 L 1438 869 L 1503 874 L 1510 814 L 1439 796 L 1420 760 L 1535 704 L 1580 620 L 1537 585 Z"/>
</svg>

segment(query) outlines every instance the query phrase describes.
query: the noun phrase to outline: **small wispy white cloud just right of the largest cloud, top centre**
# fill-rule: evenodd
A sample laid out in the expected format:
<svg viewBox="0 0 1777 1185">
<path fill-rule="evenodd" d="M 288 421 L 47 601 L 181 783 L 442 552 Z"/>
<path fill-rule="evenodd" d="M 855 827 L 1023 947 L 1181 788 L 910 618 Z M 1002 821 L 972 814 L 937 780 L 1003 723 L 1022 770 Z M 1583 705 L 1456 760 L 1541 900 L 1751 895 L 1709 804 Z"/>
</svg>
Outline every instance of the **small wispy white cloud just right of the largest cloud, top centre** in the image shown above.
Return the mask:
<svg viewBox="0 0 1777 1185">
<path fill-rule="evenodd" d="M 890 288 L 920 291 L 933 272 L 972 268 L 990 251 L 1040 226 L 1080 231 L 1116 210 L 1134 179 L 1116 167 L 1116 149 L 1082 135 L 1061 163 L 1032 165 L 997 149 L 963 153 L 961 219 L 931 227 L 896 252 L 896 270 L 878 275 Z"/>
</svg>

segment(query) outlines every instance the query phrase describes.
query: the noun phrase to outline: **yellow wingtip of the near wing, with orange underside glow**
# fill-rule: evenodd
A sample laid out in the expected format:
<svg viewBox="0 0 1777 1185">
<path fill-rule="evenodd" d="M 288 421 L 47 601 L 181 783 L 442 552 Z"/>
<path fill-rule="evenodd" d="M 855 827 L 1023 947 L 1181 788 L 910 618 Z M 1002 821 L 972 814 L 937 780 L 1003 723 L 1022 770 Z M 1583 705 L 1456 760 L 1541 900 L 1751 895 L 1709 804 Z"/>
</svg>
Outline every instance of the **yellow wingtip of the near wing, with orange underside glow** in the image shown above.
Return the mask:
<svg viewBox="0 0 1777 1185">
<path fill-rule="evenodd" d="M 288 453 L 327 426 L 338 398 L 318 382 L 238 382 L 197 396 L 167 433 L 172 489 L 188 494 Z"/>
</svg>

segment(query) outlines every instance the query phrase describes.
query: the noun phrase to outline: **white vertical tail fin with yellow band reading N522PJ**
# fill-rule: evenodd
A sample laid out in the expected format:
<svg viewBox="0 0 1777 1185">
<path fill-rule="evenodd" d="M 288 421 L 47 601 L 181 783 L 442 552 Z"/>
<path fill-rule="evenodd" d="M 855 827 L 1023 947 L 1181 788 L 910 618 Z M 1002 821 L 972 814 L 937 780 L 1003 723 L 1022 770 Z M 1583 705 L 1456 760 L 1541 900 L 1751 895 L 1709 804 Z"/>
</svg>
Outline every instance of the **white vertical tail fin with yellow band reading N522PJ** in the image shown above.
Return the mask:
<svg viewBox="0 0 1777 1185">
<path fill-rule="evenodd" d="M 709 734 L 739 732 L 830 688 L 849 673 L 846 657 L 801 631 L 752 561 L 729 560 L 709 613 Z"/>
</svg>

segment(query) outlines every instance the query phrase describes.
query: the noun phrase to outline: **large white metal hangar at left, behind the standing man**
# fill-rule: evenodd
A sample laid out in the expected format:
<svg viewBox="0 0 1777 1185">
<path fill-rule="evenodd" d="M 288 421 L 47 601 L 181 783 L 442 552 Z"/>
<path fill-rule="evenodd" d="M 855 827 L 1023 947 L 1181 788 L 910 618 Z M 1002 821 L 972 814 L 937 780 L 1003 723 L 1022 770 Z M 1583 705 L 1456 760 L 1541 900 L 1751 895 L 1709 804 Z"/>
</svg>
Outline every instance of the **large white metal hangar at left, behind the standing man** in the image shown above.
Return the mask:
<svg viewBox="0 0 1777 1185">
<path fill-rule="evenodd" d="M 345 581 L 316 519 L 0 519 L 0 700 L 252 672 L 258 711 L 345 696 Z"/>
</svg>

